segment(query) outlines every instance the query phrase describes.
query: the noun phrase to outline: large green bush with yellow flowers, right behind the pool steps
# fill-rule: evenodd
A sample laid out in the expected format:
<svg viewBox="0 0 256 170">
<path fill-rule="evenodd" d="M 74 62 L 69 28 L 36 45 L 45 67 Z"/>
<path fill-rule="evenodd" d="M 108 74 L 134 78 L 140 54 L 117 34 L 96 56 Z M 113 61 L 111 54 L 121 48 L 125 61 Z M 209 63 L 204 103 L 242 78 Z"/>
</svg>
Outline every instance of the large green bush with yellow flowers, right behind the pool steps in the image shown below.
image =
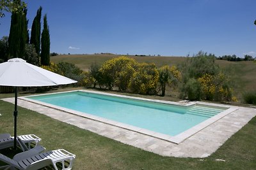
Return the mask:
<svg viewBox="0 0 256 170">
<path fill-rule="evenodd" d="M 215 56 L 212 54 L 198 52 L 195 57 L 186 60 L 182 65 L 182 79 L 183 83 L 180 88 L 182 98 L 210 101 L 231 101 L 236 98 L 232 96 L 233 84 L 230 75 L 224 74 L 219 69 L 215 63 Z M 196 85 L 196 87 L 193 88 L 192 85 Z"/>
</svg>

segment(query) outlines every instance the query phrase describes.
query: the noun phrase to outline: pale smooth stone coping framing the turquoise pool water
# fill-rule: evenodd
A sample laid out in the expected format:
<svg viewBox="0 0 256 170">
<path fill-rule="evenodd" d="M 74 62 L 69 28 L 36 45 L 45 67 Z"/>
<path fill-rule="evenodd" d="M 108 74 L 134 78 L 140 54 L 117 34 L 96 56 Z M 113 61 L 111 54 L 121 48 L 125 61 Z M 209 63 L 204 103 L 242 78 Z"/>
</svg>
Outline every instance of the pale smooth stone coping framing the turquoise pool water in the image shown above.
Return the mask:
<svg viewBox="0 0 256 170">
<path fill-rule="evenodd" d="M 89 92 L 89 93 L 93 93 L 93 94 L 103 94 L 103 95 L 107 95 L 107 96 L 125 97 L 125 98 L 128 98 L 128 99 L 136 99 L 136 100 L 141 100 L 141 101 L 150 101 L 150 102 L 154 102 L 154 103 L 173 104 L 173 105 L 176 105 L 176 106 L 192 106 L 194 104 L 204 104 L 204 105 L 208 105 L 208 106 L 216 106 L 216 107 L 227 108 L 227 110 L 222 111 L 221 113 L 218 113 L 214 117 L 208 118 L 204 122 L 201 122 L 200 124 L 197 124 L 194 127 L 191 127 L 190 129 L 188 129 L 184 132 L 181 132 L 180 134 L 177 134 L 176 136 L 170 136 L 168 134 L 161 134 L 159 132 L 150 131 L 148 129 L 143 129 L 143 128 L 135 127 L 133 125 L 128 125 L 128 124 L 123 124 L 123 123 L 120 123 L 120 122 L 116 122 L 114 120 L 109 120 L 107 118 L 97 117 L 95 115 L 91 115 L 91 114 L 88 114 L 88 113 L 83 113 L 81 111 L 70 110 L 70 109 L 67 109 L 67 108 L 63 108 L 61 106 L 56 106 L 56 105 L 53 105 L 53 104 L 43 103 L 43 102 L 40 102 L 40 101 L 36 101 L 36 100 L 27 98 L 27 97 L 32 97 L 32 96 L 44 96 L 44 95 L 49 95 L 49 94 L 38 94 L 38 95 L 32 95 L 32 96 L 24 96 L 24 97 L 19 97 L 19 99 L 22 99 L 24 101 L 29 101 L 29 102 L 35 103 L 35 104 L 40 104 L 42 106 L 47 106 L 49 108 L 53 108 L 53 109 L 56 109 L 56 110 L 65 111 L 66 113 L 70 113 L 70 114 L 73 114 L 73 115 L 77 115 L 79 117 L 84 117 L 84 118 L 88 118 L 90 120 L 95 120 L 95 121 L 98 121 L 98 122 L 102 122 L 104 124 L 114 125 L 116 127 L 122 128 L 122 129 L 127 129 L 129 131 L 134 131 L 134 132 L 138 132 L 140 134 L 145 134 L 145 135 L 151 136 L 153 138 L 163 139 L 164 141 L 172 142 L 172 143 L 175 143 L 175 144 L 182 143 L 184 140 L 193 136 L 197 132 L 202 131 L 203 129 L 205 129 L 205 127 L 208 127 L 209 125 L 213 124 L 214 122 L 220 120 L 221 118 L 227 116 L 228 114 L 230 114 L 233 111 L 236 111 L 238 109 L 237 107 L 226 106 L 226 105 L 223 105 L 223 104 L 204 103 L 204 102 L 199 102 L 199 101 L 196 101 L 196 102 L 163 101 L 163 100 L 157 100 L 157 99 L 146 99 L 146 98 L 142 98 L 142 97 L 125 96 L 125 95 L 120 95 L 120 94 L 110 94 L 110 93 L 106 93 L 106 92 L 96 92 L 96 91 L 92 91 L 92 90 L 70 90 L 70 91 L 67 91 L 67 92 Z M 67 92 L 56 92 L 56 93 L 51 93 L 51 94 L 60 94 L 60 93 L 67 93 Z"/>
</svg>

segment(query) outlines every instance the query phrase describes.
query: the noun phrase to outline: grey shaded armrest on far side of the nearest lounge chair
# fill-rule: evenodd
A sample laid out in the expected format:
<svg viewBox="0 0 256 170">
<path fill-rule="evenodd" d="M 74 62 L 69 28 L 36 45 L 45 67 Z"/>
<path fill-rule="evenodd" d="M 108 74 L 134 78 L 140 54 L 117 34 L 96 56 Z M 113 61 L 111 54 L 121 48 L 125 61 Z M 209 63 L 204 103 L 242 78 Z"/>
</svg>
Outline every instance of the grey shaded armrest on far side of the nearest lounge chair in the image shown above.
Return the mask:
<svg viewBox="0 0 256 170">
<path fill-rule="evenodd" d="M 26 159 L 28 157 L 32 157 L 34 155 L 37 155 L 38 153 L 41 153 L 45 150 L 45 148 L 43 146 L 36 146 L 35 148 L 32 148 L 31 150 L 25 151 L 25 152 L 21 152 L 18 153 L 16 155 L 14 155 L 13 160 L 19 161 L 22 159 Z"/>
</svg>

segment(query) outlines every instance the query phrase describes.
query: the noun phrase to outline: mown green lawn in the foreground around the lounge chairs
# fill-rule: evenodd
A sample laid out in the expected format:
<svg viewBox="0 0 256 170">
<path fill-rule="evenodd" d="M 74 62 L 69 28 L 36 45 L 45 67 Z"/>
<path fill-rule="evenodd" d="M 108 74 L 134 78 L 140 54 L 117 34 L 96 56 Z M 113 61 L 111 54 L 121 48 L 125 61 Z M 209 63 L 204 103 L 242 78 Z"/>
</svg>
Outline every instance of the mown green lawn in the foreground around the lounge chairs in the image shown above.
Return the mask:
<svg viewBox="0 0 256 170">
<path fill-rule="evenodd" d="M 1 94 L 0 98 L 8 96 L 13 97 L 13 94 Z M 2 115 L 0 133 L 12 134 L 13 108 L 13 104 L 0 101 Z M 210 157 L 192 159 L 162 157 L 26 108 L 18 107 L 18 110 L 18 134 L 36 134 L 42 138 L 40 143 L 47 150 L 65 148 L 76 154 L 73 169 L 255 169 L 256 167 L 256 117 Z M 225 162 L 218 162 L 216 159 L 223 159 Z M 3 162 L 0 162 L 1 164 Z"/>
</svg>

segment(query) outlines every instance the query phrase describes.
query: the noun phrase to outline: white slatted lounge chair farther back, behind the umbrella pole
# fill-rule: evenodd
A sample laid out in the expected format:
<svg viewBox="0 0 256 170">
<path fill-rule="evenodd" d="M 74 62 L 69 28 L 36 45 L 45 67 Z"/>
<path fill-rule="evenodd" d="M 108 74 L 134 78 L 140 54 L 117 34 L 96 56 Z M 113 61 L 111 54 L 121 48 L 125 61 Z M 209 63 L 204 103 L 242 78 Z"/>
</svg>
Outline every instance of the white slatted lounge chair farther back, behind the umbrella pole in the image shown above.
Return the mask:
<svg viewBox="0 0 256 170">
<path fill-rule="evenodd" d="M 35 134 L 25 134 L 17 136 L 18 139 L 22 141 L 22 143 L 25 143 L 28 149 L 31 149 L 31 144 L 37 146 L 38 142 L 41 141 L 38 136 L 35 136 Z M 4 148 L 10 148 L 13 146 L 14 143 L 14 137 L 12 137 L 10 134 L 0 134 L 0 150 Z M 20 142 L 18 141 L 20 144 Z M 26 151 L 28 149 L 22 147 L 20 145 L 20 148 L 22 151 Z"/>
</svg>

